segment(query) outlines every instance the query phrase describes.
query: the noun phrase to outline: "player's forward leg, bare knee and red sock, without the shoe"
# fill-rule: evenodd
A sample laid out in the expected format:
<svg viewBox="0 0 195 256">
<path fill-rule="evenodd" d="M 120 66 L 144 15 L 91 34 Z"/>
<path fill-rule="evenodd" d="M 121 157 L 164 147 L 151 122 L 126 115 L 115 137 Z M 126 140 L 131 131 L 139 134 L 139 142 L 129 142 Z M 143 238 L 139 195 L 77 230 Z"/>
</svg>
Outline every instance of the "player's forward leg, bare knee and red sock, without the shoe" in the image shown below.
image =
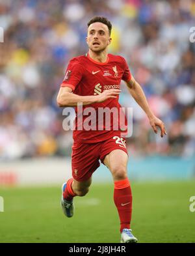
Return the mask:
<svg viewBox="0 0 195 256">
<path fill-rule="evenodd" d="M 127 178 L 127 154 L 120 149 L 113 150 L 103 163 L 109 168 L 114 180 L 114 203 L 120 217 L 120 232 L 130 229 L 132 212 L 132 194 Z"/>
</svg>

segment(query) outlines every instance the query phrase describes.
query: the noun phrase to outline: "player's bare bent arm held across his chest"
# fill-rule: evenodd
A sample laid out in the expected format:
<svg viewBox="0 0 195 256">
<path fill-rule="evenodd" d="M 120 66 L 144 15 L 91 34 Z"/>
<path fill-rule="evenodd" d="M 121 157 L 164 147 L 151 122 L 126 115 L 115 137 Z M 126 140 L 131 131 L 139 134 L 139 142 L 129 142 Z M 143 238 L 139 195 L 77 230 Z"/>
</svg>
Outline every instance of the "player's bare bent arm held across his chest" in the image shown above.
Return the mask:
<svg viewBox="0 0 195 256">
<path fill-rule="evenodd" d="M 82 102 L 83 106 L 86 106 L 105 102 L 109 98 L 117 98 L 120 92 L 118 89 L 110 89 L 97 96 L 79 96 L 74 94 L 70 87 L 61 87 L 57 96 L 57 104 L 59 107 L 76 107 L 79 102 Z"/>
</svg>

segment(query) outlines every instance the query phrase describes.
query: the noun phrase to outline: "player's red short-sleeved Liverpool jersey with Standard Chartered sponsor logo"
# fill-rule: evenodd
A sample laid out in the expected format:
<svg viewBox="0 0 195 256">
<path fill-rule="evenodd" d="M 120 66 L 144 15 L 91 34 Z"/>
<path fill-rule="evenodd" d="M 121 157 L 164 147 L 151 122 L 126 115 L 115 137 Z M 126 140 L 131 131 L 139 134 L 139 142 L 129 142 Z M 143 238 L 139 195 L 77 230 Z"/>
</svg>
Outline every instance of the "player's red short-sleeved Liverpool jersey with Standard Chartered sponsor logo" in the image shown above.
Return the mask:
<svg viewBox="0 0 195 256">
<path fill-rule="evenodd" d="M 99 63 L 91 59 L 87 53 L 86 55 L 75 57 L 70 61 L 61 87 L 70 87 L 73 89 L 73 93 L 80 96 L 92 96 L 98 95 L 109 89 L 120 89 L 122 79 L 124 81 L 131 80 L 131 73 L 123 57 L 108 54 L 107 61 L 105 63 Z M 118 130 L 114 128 L 113 115 L 110 115 L 109 130 L 107 130 L 107 126 L 105 124 L 105 117 L 103 117 L 103 120 L 98 120 L 99 108 L 108 107 L 109 109 L 112 109 L 112 107 L 115 107 L 118 109 L 118 113 L 120 113 L 118 98 L 119 97 L 110 98 L 105 102 L 83 106 L 83 113 L 86 107 L 88 107 L 88 110 L 90 110 L 89 107 L 93 107 L 95 112 L 94 110 L 90 113 L 88 112 L 88 115 L 85 113 L 82 119 L 77 115 L 78 107 L 75 107 L 76 117 L 75 129 L 73 131 L 74 141 L 82 143 L 97 143 L 99 141 L 110 139 L 114 135 L 118 135 L 120 137 L 122 130 L 120 130 L 120 125 L 118 125 Z M 89 116 L 91 116 L 90 119 L 92 119 L 92 115 L 94 120 L 96 120 L 96 124 L 93 124 L 93 128 L 90 130 L 81 128 L 82 125 L 79 122 L 84 123 L 87 121 Z M 119 118 L 117 119 L 117 122 L 119 122 Z M 101 128 L 100 130 L 98 129 L 99 121 L 103 122 L 103 129 Z M 91 120 L 91 122 L 93 121 Z"/>
</svg>

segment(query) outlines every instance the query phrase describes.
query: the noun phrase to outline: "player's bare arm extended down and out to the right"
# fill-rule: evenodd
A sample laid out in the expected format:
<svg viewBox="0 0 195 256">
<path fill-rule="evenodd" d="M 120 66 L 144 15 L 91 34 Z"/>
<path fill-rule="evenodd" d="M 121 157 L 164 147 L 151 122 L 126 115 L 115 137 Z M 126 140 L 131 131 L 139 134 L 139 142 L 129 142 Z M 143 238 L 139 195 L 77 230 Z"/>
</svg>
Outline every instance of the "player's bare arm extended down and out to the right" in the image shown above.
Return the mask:
<svg viewBox="0 0 195 256">
<path fill-rule="evenodd" d="M 131 77 L 131 80 L 129 82 L 126 82 L 126 84 L 133 98 L 136 100 L 138 105 L 142 107 L 142 109 L 148 116 L 149 123 L 151 124 L 151 127 L 153 128 L 154 132 L 157 134 L 157 126 L 159 126 L 159 128 L 161 129 L 161 137 L 163 137 L 163 135 L 166 134 L 164 123 L 161 121 L 161 119 L 155 117 L 155 115 L 151 111 L 148 105 L 148 101 L 146 100 L 144 91 L 142 90 L 142 87 L 139 85 L 139 83 L 135 81 L 133 76 Z"/>
</svg>

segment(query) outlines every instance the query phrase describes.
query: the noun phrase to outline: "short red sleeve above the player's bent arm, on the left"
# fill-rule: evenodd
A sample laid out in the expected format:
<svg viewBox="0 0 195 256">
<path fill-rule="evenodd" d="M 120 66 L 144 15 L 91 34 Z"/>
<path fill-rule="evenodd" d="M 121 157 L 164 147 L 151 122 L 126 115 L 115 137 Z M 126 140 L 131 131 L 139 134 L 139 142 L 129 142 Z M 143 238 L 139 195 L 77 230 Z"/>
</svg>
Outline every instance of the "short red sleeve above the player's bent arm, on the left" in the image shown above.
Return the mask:
<svg viewBox="0 0 195 256">
<path fill-rule="evenodd" d="M 70 87 L 75 90 L 75 87 L 78 85 L 78 83 L 81 81 L 81 78 L 83 76 L 83 68 L 81 64 L 78 63 L 78 61 L 70 61 L 68 64 L 68 67 L 66 68 L 66 73 L 64 76 L 64 80 L 62 81 L 62 84 L 60 87 Z"/>
</svg>

